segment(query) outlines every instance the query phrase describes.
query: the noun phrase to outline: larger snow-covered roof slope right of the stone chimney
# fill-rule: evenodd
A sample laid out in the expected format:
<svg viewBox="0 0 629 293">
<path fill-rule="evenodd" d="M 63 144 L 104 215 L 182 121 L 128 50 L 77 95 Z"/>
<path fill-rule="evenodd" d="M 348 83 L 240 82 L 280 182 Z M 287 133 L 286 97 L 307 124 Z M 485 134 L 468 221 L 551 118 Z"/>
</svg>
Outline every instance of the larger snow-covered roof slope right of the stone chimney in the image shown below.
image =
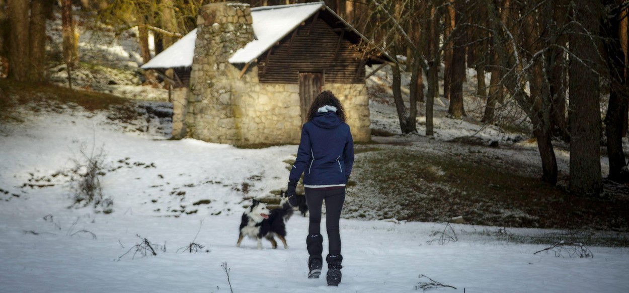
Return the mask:
<svg viewBox="0 0 629 293">
<path fill-rule="evenodd" d="M 245 47 L 238 49 L 231 55 L 229 62 L 251 62 L 291 33 L 323 5 L 325 5 L 323 2 L 316 2 L 252 8 L 253 33 L 257 40 L 250 41 Z"/>
</svg>

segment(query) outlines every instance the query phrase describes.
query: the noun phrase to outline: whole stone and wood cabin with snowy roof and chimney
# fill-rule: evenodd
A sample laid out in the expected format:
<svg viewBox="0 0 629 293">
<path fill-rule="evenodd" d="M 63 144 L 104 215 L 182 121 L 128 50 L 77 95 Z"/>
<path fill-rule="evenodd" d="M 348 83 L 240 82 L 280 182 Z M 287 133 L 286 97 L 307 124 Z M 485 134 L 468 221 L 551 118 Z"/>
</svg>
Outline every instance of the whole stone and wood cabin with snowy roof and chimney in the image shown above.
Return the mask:
<svg viewBox="0 0 629 293">
<path fill-rule="evenodd" d="M 332 91 L 355 141 L 370 140 L 365 65 L 392 62 L 325 3 L 207 4 L 197 28 L 142 66 L 174 69 L 173 137 L 298 143 L 316 95 Z"/>
</svg>

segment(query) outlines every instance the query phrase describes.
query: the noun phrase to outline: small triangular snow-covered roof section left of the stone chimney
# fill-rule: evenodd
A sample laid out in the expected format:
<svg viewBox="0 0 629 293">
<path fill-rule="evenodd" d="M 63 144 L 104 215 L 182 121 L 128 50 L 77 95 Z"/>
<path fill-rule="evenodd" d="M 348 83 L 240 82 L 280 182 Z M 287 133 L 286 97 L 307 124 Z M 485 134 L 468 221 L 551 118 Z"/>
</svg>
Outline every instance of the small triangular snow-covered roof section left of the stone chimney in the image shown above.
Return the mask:
<svg viewBox="0 0 629 293">
<path fill-rule="evenodd" d="M 194 57 L 194 41 L 196 41 L 196 28 L 190 31 L 183 38 L 176 41 L 166 50 L 157 54 L 147 63 L 142 65 L 142 69 L 150 68 L 174 68 L 192 66 Z"/>
</svg>

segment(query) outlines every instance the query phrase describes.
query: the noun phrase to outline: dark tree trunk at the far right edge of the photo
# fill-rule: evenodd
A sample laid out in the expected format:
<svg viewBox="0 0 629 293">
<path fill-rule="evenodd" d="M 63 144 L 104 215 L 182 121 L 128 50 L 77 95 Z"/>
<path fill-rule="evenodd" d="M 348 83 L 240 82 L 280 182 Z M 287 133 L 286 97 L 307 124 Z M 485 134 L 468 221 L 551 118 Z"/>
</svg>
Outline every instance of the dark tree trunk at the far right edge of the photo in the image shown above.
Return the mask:
<svg viewBox="0 0 629 293">
<path fill-rule="evenodd" d="M 608 7 L 615 6 L 615 1 L 605 0 Z M 626 166 L 625 153 L 623 152 L 623 126 L 624 115 L 629 108 L 629 97 L 625 76 L 625 53 L 621 46 L 621 13 L 620 9 L 611 10 L 615 17 L 605 18 L 601 22 L 606 63 L 610 72 L 610 102 L 605 115 L 605 134 L 607 136 L 607 153 L 610 161 L 609 179 L 617 182 L 629 181 L 629 172 L 623 171 Z"/>
</svg>

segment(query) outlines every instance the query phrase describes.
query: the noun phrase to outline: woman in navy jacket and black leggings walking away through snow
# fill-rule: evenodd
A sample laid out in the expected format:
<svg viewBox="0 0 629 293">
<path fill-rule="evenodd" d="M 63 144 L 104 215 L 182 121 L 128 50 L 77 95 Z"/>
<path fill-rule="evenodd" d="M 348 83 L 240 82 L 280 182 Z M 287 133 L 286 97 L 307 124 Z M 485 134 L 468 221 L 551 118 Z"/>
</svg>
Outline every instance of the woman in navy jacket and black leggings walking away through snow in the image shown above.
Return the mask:
<svg viewBox="0 0 629 293">
<path fill-rule="evenodd" d="M 341 238 L 338 219 L 345 201 L 345 184 L 352 172 L 353 140 L 350 126 L 345 123 L 343 106 L 332 92 L 316 97 L 308 111 L 308 122 L 301 128 L 297 160 L 292 165 L 287 188 L 289 202 L 296 204 L 295 187 L 304 173 L 306 202 L 310 212 L 308 227 L 308 278 L 318 278 L 323 259 L 323 237 L 320 233 L 321 204 L 325 200 L 326 229 L 329 250 L 326 279 L 328 285 L 341 282 Z"/>
</svg>

